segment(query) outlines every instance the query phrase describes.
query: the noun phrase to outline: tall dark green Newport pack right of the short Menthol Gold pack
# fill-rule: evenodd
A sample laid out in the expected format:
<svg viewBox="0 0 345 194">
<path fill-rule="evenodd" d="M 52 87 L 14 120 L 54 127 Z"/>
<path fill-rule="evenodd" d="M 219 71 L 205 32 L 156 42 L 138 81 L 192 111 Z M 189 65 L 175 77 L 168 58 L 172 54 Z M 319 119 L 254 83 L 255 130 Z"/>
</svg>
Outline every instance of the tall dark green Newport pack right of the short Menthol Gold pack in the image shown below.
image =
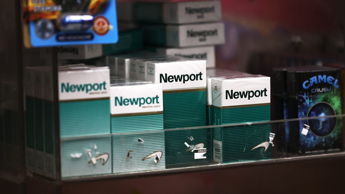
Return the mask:
<svg viewBox="0 0 345 194">
<path fill-rule="evenodd" d="M 164 128 L 205 126 L 206 61 L 159 59 L 147 61 L 146 66 L 148 80 L 162 84 Z M 191 142 L 187 137 L 193 137 L 191 139 L 194 140 Z M 193 146 L 207 148 L 206 129 L 166 131 L 166 167 L 207 162 L 206 157 L 195 159 L 193 148 L 190 149 Z"/>
</svg>

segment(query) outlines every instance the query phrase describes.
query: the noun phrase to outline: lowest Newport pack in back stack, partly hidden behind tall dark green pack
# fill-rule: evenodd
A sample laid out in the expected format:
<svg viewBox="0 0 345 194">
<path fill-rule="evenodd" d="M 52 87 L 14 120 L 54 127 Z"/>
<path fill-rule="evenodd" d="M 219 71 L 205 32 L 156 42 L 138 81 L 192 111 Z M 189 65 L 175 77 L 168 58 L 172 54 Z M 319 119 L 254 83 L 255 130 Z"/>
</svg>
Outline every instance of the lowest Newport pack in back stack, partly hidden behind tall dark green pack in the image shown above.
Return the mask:
<svg viewBox="0 0 345 194">
<path fill-rule="evenodd" d="M 157 48 L 158 54 L 206 60 L 206 68 L 216 66 L 215 47 Z"/>
</svg>

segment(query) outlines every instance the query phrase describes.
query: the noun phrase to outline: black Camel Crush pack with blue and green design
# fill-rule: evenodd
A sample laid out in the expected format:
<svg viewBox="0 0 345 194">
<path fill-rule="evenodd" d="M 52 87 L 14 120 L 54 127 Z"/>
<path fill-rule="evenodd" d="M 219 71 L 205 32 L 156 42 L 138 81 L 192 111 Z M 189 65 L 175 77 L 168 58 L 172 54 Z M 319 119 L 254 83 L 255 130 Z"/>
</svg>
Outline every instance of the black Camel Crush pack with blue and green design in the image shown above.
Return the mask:
<svg viewBox="0 0 345 194">
<path fill-rule="evenodd" d="M 343 151 L 341 72 L 331 67 L 296 67 L 286 71 L 289 152 L 312 155 Z M 319 117 L 311 119 L 310 117 Z M 307 119 L 309 118 L 309 119 Z"/>
</svg>

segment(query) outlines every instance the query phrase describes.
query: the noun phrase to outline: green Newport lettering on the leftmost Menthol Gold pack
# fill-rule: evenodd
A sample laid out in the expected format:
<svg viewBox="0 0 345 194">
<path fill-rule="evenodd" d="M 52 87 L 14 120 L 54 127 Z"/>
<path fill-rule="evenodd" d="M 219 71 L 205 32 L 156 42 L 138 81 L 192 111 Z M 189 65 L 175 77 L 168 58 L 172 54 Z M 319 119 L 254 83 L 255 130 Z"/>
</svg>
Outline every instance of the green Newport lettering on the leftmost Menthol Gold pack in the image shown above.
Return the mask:
<svg viewBox="0 0 345 194">
<path fill-rule="evenodd" d="M 106 90 L 106 82 L 103 81 L 103 83 L 95 83 L 95 84 L 67 84 L 61 83 L 61 93 L 64 91 L 66 93 L 68 92 L 85 92 L 89 93 L 89 91 L 100 91 L 100 90 Z"/>
</svg>

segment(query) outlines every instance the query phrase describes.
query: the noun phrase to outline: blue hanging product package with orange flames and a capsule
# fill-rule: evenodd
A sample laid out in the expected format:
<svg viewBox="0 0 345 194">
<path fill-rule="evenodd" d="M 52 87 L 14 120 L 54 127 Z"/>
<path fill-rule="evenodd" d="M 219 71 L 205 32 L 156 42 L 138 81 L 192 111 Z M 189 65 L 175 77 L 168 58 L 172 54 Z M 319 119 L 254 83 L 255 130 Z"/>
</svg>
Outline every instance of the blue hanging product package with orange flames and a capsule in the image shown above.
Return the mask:
<svg viewBox="0 0 345 194">
<path fill-rule="evenodd" d="M 115 0 L 23 0 L 24 46 L 116 43 Z"/>
</svg>

